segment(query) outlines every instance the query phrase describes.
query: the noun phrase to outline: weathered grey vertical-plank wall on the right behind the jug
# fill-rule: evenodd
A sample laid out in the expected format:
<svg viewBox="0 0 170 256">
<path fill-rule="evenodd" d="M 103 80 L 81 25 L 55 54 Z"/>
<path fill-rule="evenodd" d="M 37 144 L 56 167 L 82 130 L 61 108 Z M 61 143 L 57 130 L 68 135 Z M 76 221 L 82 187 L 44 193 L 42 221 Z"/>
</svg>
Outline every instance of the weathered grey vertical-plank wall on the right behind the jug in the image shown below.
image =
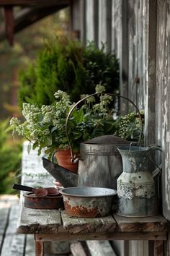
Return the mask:
<svg viewBox="0 0 170 256">
<path fill-rule="evenodd" d="M 84 40 L 98 47 L 107 42 L 120 59 L 120 93 L 145 111 L 146 145 L 162 146 L 163 213 L 170 221 L 170 0 L 86 0 L 81 12 Z M 121 107 L 125 111 L 127 103 Z M 128 250 L 137 247 L 148 250 L 140 242 Z"/>
</svg>

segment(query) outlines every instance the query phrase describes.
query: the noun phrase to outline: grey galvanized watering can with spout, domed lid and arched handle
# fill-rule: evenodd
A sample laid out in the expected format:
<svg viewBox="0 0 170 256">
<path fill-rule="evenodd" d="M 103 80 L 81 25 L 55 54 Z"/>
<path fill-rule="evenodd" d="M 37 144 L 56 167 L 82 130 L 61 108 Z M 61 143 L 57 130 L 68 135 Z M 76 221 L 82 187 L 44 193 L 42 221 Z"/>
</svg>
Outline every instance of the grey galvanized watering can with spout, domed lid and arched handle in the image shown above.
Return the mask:
<svg viewBox="0 0 170 256">
<path fill-rule="evenodd" d="M 86 100 L 91 96 L 97 95 L 99 93 L 94 93 L 81 99 L 81 101 Z M 108 95 L 115 95 L 112 93 L 107 93 Z M 124 96 L 115 95 L 120 98 L 125 98 Z M 130 101 L 128 98 L 126 100 Z M 87 186 L 87 187 L 107 187 L 116 189 L 117 188 L 117 177 L 122 173 L 122 159 L 117 148 L 120 145 L 128 145 L 130 142 L 124 140 L 120 137 L 113 135 L 104 135 L 96 137 L 87 142 L 80 143 L 80 158 L 75 158 L 73 155 L 71 142 L 68 135 L 68 120 L 73 112 L 74 108 L 81 103 L 78 101 L 73 108 L 68 113 L 66 119 L 66 135 L 68 137 L 68 142 L 71 148 L 71 161 L 79 161 L 78 175 L 73 174 L 71 171 L 58 166 L 53 160 L 48 161 L 45 158 L 43 160 L 43 166 L 46 170 L 60 182 L 63 187 L 75 187 L 75 186 Z M 135 106 L 135 104 L 130 101 L 130 103 Z M 135 108 L 138 111 L 140 118 L 140 138 L 142 136 L 142 118 L 140 116 L 140 111 L 137 106 Z"/>
</svg>

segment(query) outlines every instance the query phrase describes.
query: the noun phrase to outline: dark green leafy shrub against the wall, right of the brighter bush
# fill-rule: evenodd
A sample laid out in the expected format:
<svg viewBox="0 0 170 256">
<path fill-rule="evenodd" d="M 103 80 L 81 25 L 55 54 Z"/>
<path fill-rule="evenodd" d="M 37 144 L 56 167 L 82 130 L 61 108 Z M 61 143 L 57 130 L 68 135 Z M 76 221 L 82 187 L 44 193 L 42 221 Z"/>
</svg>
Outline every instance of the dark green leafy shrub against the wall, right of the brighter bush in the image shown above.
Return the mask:
<svg viewBox="0 0 170 256">
<path fill-rule="evenodd" d="M 86 71 L 86 88 L 94 93 L 97 84 L 104 85 L 107 93 L 114 93 L 119 88 L 119 61 L 115 54 L 106 53 L 89 43 L 84 51 L 84 69 Z"/>
</svg>

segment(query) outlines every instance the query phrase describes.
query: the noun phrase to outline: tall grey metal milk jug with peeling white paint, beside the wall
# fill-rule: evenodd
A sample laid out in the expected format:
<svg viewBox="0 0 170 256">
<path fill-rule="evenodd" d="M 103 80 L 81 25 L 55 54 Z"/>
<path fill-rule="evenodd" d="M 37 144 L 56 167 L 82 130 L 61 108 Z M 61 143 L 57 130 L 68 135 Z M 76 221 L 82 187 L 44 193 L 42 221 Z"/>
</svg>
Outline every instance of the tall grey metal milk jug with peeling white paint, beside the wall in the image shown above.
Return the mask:
<svg viewBox="0 0 170 256">
<path fill-rule="evenodd" d="M 151 171 L 153 150 L 138 146 L 118 148 L 122 156 L 123 172 L 117 179 L 117 214 L 120 216 L 146 217 L 158 214 L 158 198 L 154 177 L 161 165 Z"/>
</svg>

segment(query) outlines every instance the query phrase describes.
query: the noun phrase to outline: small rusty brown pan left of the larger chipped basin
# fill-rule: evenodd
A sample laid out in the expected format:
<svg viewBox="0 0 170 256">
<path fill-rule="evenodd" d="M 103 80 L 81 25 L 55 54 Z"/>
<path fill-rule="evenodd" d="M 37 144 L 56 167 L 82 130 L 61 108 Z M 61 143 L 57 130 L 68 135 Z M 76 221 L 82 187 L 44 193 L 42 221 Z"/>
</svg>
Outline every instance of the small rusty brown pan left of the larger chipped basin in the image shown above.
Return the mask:
<svg viewBox="0 0 170 256">
<path fill-rule="evenodd" d="M 63 209 L 63 197 L 62 196 L 46 196 L 37 197 L 32 192 L 24 194 L 24 206 L 34 209 Z"/>
</svg>

